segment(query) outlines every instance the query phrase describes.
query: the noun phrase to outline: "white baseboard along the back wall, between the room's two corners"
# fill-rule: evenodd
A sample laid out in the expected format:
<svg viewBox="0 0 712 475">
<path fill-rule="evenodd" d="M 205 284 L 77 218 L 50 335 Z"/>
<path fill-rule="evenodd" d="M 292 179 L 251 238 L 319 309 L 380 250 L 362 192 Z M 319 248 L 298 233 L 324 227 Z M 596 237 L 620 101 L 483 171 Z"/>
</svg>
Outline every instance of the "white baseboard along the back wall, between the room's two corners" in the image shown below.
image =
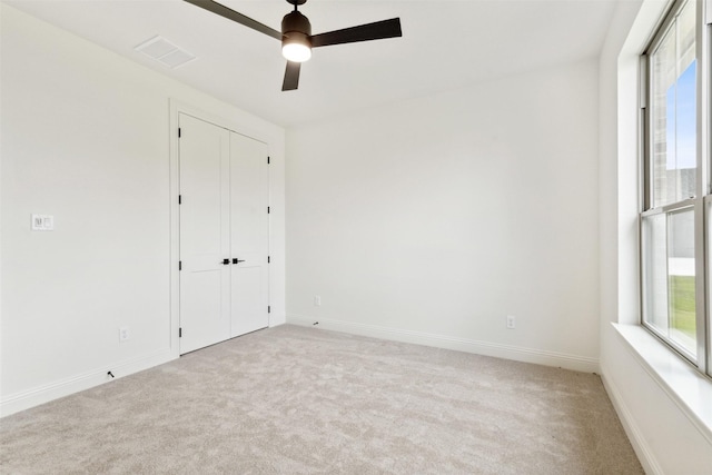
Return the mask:
<svg viewBox="0 0 712 475">
<path fill-rule="evenodd" d="M 496 358 L 513 359 L 515 362 L 533 363 L 536 365 L 554 366 L 584 373 L 599 373 L 599 359 L 576 355 L 566 355 L 555 352 L 525 348 L 520 346 L 502 345 L 498 343 L 477 342 L 466 338 L 457 338 L 445 335 L 412 331 L 398 328 L 380 327 L 377 325 L 355 324 L 350 321 L 329 320 L 318 318 L 318 325 L 314 325 L 315 318 L 300 315 L 287 315 L 287 324 L 317 327 L 334 331 L 343 331 L 353 335 L 369 336 L 374 338 L 390 339 L 403 343 L 433 346 L 436 348 L 455 349 L 458 352 L 474 353 L 477 355 L 494 356 Z"/>
</svg>

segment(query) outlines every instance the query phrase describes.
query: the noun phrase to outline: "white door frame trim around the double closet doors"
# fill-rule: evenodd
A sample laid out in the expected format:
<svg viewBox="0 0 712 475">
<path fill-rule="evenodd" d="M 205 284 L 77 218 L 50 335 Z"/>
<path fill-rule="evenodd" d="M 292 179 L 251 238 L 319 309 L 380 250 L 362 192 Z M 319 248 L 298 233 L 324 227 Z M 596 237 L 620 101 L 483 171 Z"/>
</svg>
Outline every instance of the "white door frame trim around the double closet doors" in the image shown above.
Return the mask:
<svg viewBox="0 0 712 475">
<path fill-rule="evenodd" d="M 214 123 L 218 127 L 231 130 L 236 133 L 249 137 L 267 145 L 267 152 L 270 158 L 273 157 L 273 147 L 270 144 L 270 137 L 266 133 L 260 133 L 254 127 L 247 126 L 244 121 L 225 119 L 221 116 L 206 112 L 202 109 L 196 108 L 189 103 L 179 101 L 177 99 L 169 99 L 169 202 L 170 202 L 170 335 L 169 345 L 171 356 L 175 358 L 180 357 L 180 269 L 178 268 L 178 261 L 180 259 L 180 207 L 178 204 L 178 195 L 180 192 L 180 161 L 179 151 L 180 145 L 178 140 L 178 118 L 180 113 L 192 116 L 196 119 L 204 120 L 206 122 Z M 248 119 L 249 120 L 249 119 Z M 280 157 L 281 158 L 281 157 Z M 268 206 L 273 207 L 273 179 L 271 179 L 271 166 L 268 172 Z M 268 217 L 268 253 L 273 254 L 273 214 Z M 284 240 L 284 237 L 283 237 Z M 284 244 L 283 244 L 284 245 Z M 281 253 L 279 253 L 281 254 Z M 268 273 L 268 287 L 267 299 L 269 305 L 273 306 L 273 267 L 270 265 Z M 281 274 L 281 273 L 280 273 Z M 268 326 L 273 326 L 273 313 L 268 315 Z M 279 318 L 278 318 L 279 319 Z M 281 321 L 277 321 L 279 324 Z"/>
</svg>

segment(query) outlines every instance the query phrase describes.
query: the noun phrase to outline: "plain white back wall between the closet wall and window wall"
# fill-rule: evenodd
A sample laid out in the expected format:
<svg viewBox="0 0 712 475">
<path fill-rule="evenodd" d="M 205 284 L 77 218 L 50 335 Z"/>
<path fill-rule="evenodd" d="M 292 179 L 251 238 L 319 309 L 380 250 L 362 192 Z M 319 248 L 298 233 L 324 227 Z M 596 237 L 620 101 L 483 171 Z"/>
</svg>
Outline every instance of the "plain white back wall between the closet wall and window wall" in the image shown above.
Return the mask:
<svg viewBox="0 0 712 475">
<path fill-rule="evenodd" d="M 287 155 L 287 321 L 597 369 L 595 60 L 299 127 Z"/>
</svg>

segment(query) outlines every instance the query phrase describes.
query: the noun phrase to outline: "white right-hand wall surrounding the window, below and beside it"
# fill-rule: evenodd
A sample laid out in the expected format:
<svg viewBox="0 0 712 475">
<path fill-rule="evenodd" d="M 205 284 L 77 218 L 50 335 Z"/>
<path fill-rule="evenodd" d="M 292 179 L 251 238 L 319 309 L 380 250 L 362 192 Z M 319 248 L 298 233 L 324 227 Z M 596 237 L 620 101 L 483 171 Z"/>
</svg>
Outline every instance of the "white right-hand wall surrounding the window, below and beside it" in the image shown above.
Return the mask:
<svg viewBox="0 0 712 475">
<path fill-rule="evenodd" d="M 601 373 L 647 473 L 706 474 L 712 439 L 611 325 L 639 321 L 637 56 L 665 4 L 621 2 L 600 59 Z"/>
</svg>

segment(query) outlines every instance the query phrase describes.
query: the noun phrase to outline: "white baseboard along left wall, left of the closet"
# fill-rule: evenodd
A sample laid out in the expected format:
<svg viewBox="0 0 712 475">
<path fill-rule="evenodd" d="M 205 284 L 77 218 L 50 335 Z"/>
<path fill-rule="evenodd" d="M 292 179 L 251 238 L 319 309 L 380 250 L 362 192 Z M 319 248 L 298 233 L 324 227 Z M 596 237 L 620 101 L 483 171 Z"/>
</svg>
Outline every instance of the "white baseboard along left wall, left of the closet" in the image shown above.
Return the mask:
<svg viewBox="0 0 712 475">
<path fill-rule="evenodd" d="M 30 407 L 39 406 L 40 404 L 49 403 L 60 397 L 109 383 L 113 378 L 107 374 L 108 372 L 111 372 L 118 379 L 144 369 L 152 368 L 154 366 L 162 365 L 172 359 L 176 359 L 174 352 L 170 348 L 165 348 L 117 365 L 92 369 L 80 375 L 9 395 L 0 400 L 0 417 L 9 416 L 10 414 L 19 413 L 20 410 L 29 409 Z"/>
</svg>

